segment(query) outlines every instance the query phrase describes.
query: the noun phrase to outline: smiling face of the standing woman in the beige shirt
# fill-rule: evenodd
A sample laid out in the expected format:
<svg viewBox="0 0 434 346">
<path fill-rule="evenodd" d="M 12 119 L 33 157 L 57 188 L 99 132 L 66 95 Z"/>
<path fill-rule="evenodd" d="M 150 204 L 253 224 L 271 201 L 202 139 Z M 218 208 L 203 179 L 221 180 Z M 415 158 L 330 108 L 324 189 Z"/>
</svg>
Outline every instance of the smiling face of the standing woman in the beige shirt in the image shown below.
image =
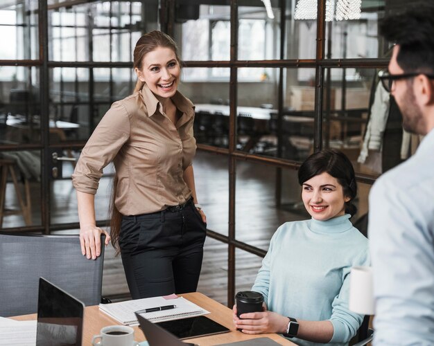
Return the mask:
<svg viewBox="0 0 434 346">
<path fill-rule="evenodd" d="M 155 48 L 144 56 L 142 66 L 141 70 L 136 68 L 137 77 L 159 100 L 175 95 L 181 69 L 171 48 Z"/>
</svg>

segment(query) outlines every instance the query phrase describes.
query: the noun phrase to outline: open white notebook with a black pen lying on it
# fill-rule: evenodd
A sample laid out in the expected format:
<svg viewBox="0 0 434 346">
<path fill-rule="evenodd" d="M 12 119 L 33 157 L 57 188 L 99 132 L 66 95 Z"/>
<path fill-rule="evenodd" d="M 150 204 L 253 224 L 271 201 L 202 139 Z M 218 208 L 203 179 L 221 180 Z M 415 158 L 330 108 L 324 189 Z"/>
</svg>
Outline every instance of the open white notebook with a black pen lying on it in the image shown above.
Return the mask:
<svg viewBox="0 0 434 346">
<path fill-rule="evenodd" d="M 141 313 L 144 318 L 151 322 L 162 322 L 168 320 L 178 320 L 190 316 L 200 316 L 209 313 L 198 305 L 186 300 L 185 298 L 166 299 L 165 297 L 143 298 L 127 300 L 126 302 L 116 302 L 112 304 L 99 304 L 99 309 L 111 316 L 123 325 L 138 325 L 139 321 L 134 315 L 135 311 L 150 309 L 154 307 L 164 307 L 168 304 L 175 305 L 175 308 Z"/>
</svg>

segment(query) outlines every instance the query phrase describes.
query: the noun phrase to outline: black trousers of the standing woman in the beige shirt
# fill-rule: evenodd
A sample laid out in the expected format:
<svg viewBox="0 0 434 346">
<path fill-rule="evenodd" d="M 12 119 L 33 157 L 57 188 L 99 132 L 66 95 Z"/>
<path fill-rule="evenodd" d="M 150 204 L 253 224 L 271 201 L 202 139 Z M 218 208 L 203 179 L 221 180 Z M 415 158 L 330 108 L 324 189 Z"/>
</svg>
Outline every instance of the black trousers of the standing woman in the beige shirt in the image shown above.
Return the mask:
<svg viewBox="0 0 434 346">
<path fill-rule="evenodd" d="M 206 230 L 192 199 L 181 208 L 123 216 L 119 246 L 132 299 L 196 291 Z"/>
</svg>

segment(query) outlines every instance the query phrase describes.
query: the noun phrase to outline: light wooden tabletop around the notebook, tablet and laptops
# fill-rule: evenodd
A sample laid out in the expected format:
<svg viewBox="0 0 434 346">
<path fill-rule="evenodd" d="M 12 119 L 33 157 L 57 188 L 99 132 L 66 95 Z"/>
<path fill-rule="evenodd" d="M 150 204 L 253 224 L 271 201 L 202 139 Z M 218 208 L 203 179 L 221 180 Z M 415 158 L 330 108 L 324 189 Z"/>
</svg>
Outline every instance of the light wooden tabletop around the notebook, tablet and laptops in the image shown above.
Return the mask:
<svg viewBox="0 0 434 346">
<path fill-rule="evenodd" d="M 279 334 L 257 334 L 248 335 L 243 334 L 241 331 L 236 331 L 234 328 L 234 323 L 232 322 L 232 310 L 225 307 L 224 305 L 208 298 L 202 293 L 186 293 L 182 294 L 182 297 L 190 300 L 191 302 L 198 304 L 200 307 L 207 309 L 210 314 L 206 315 L 211 320 L 215 320 L 229 328 L 229 333 L 217 334 L 211 336 L 204 336 L 202 338 L 189 339 L 190 343 L 197 343 L 200 346 L 207 345 L 218 345 L 222 343 L 234 343 L 235 341 L 250 340 L 252 338 L 263 338 L 267 337 L 275 340 L 280 345 L 295 345 L 291 343 L 286 338 L 283 338 Z M 14 320 L 35 320 L 36 314 L 15 316 L 12 317 Z M 119 325 L 119 322 L 110 318 L 107 314 L 99 311 L 98 306 L 94 305 L 92 307 L 85 308 L 85 324 L 83 330 L 83 345 L 92 345 L 92 336 L 99 334 L 101 328 L 107 325 Z M 139 327 L 134 327 L 134 340 L 139 342 L 146 340 L 143 332 Z M 187 341 L 187 340 L 186 340 Z"/>
</svg>

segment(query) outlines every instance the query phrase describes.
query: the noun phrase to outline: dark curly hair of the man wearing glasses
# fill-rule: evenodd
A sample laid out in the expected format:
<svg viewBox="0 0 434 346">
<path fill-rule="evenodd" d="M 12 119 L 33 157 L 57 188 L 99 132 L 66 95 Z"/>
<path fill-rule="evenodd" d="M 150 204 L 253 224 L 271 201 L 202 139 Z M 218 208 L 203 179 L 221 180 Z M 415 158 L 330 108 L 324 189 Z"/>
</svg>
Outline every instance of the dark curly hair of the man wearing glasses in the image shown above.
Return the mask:
<svg viewBox="0 0 434 346">
<path fill-rule="evenodd" d="M 434 72 L 434 6 L 411 8 L 390 15 L 381 22 L 380 32 L 399 44 L 397 62 L 406 72 Z"/>
</svg>

